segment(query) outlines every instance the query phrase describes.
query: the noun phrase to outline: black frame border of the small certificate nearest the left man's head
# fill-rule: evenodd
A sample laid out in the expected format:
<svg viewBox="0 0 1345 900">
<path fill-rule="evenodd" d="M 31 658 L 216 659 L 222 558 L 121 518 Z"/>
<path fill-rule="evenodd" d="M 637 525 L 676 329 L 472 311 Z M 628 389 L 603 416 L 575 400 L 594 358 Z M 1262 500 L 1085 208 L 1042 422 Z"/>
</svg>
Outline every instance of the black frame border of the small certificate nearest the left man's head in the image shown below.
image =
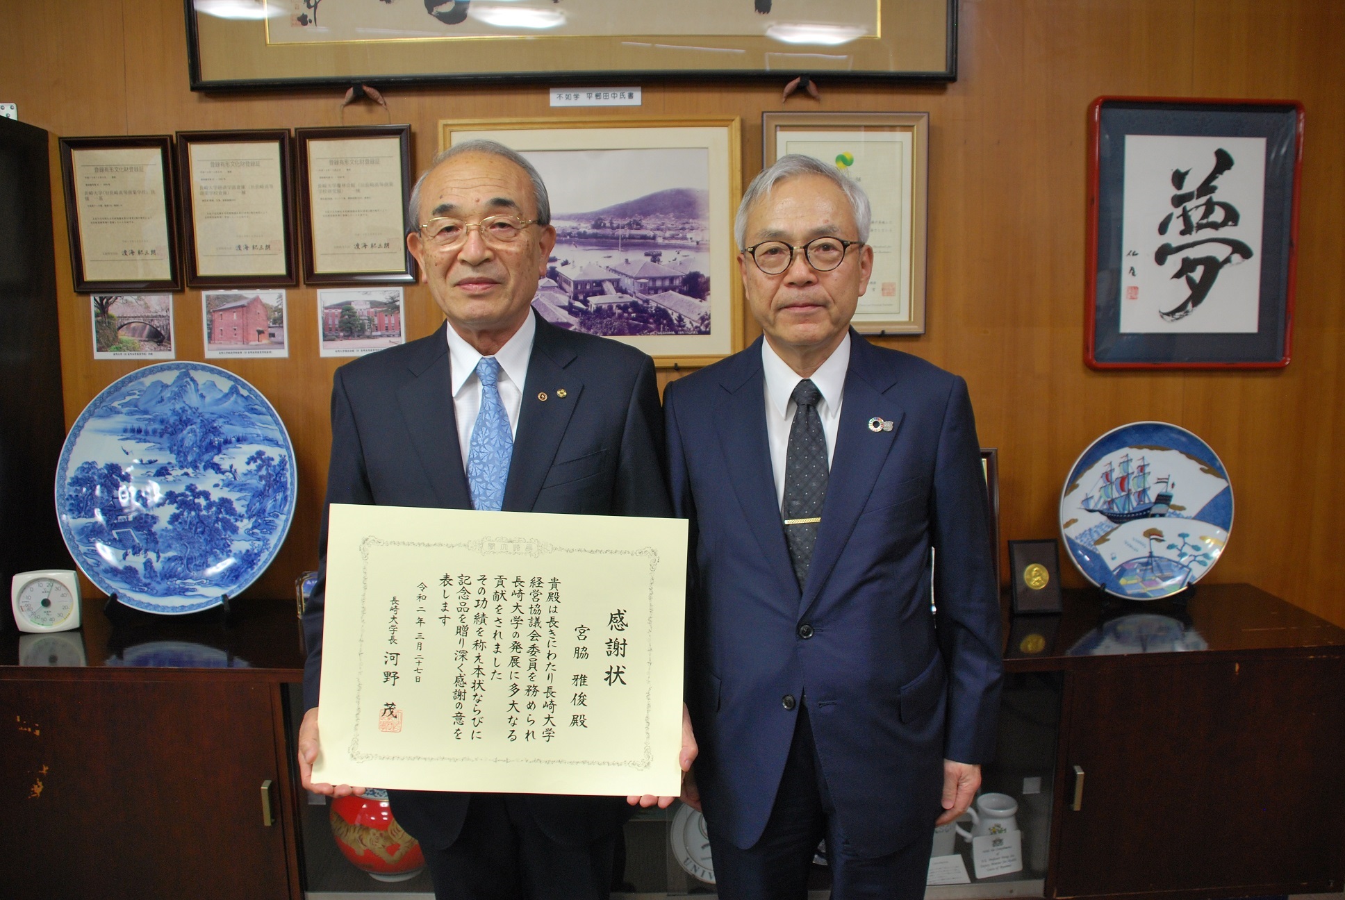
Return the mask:
<svg viewBox="0 0 1345 900">
<path fill-rule="evenodd" d="M 381 239 L 395 242 L 401 248 L 401 268 L 382 270 L 335 270 L 317 268 L 317 252 L 313 235 L 313 204 L 312 204 L 312 171 L 309 167 L 309 144 L 312 141 L 343 141 L 389 137 L 398 141 L 401 163 L 401 206 L 397 219 L 401 226 L 393 234 L 391 229 L 381 235 Z M 348 128 L 296 128 L 295 129 L 295 160 L 299 172 L 296 194 L 299 195 L 299 242 L 303 248 L 304 284 L 315 285 L 374 285 L 374 284 L 413 284 L 416 281 L 416 258 L 406 246 L 406 233 L 410 223 L 406 221 L 406 203 L 412 192 L 412 126 L 410 125 L 371 125 Z"/>
</svg>

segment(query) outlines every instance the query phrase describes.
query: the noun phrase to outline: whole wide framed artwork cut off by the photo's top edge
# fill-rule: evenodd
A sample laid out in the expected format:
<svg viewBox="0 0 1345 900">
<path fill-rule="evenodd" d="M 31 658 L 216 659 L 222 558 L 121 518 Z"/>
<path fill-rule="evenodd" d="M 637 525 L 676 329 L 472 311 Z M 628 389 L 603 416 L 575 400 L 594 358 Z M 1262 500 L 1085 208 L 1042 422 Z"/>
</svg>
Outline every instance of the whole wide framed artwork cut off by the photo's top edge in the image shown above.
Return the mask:
<svg viewBox="0 0 1345 900">
<path fill-rule="evenodd" d="M 192 90 L 741 78 L 954 81 L 956 0 L 184 0 Z"/>
</svg>

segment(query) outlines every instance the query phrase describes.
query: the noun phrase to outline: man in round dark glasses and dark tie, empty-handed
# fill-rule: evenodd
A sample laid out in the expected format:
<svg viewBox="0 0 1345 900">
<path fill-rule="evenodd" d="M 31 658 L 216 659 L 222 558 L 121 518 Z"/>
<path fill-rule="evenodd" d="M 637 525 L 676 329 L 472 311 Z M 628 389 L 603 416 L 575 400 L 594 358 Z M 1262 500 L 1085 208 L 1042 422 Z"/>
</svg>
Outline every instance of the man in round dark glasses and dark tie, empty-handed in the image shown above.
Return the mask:
<svg viewBox="0 0 1345 900">
<path fill-rule="evenodd" d="M 835 900 L 923 897 L 1002 669 L 967 386 L 850 328 L 873 250 L 845 174 L 781 157 L 734 237 L 764 335 L 664 393 L 691 522 L 683 799 L 699 788 L 724 900 L 802 900 L 822 838 Z"/>
</svg>

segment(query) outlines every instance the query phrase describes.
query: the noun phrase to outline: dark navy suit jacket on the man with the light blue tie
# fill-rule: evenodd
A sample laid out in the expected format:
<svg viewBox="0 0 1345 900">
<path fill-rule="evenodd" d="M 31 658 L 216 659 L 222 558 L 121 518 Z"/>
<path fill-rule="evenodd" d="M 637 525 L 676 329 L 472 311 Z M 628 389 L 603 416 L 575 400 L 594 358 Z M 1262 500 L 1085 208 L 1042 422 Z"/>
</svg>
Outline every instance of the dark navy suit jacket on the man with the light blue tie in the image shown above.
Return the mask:
<svg viewBox="0 0 1345 900">
<path fill-rule="evenodd" d="M 472 509 L 457 445 L 447 327 L 336 370 L 328 504 Z M 666 517 L 662 460 L 654 362 L 615 340 L 565 331 L 538 316 L 504 510 Z M 321 675 L 327 506 L 319 553 L 317 585 L 304 612 L 304 709 L 317 705 Z M 457 839 L 468 794 L 390 794 L 393 814 L 421 842 L 447 848 Z M 529 806 L 538 826 L 569 846 L 611 833 L 631 811 L 624 798 L 530 795 Z"/>
</svg>

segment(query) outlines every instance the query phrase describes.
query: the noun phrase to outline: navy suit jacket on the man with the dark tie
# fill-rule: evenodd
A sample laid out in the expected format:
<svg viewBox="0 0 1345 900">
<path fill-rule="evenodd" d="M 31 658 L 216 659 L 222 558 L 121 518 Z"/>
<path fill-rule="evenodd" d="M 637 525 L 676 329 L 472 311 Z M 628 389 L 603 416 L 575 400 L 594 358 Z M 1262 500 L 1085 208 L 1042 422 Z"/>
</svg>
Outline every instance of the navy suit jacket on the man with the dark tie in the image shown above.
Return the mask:
<svg viewBox="0 0 1345 900">
<path fill-rule="evenodd" d="M 785 696 L 806 697 L 859 856 L 933 827 L 944 757 L 982 763 L 994 749 L 999 603 L 966 382 L 850 339 L 803 591 L 771 470 L 760 339 L 664 391 L 672 509 L 691 521 L 697 782 L 709 826 L 742 849 L 761 837 L 784 771 L 798 716 Z M 873 417 L 892 430 L 872 430 Z"/>
</svg>

